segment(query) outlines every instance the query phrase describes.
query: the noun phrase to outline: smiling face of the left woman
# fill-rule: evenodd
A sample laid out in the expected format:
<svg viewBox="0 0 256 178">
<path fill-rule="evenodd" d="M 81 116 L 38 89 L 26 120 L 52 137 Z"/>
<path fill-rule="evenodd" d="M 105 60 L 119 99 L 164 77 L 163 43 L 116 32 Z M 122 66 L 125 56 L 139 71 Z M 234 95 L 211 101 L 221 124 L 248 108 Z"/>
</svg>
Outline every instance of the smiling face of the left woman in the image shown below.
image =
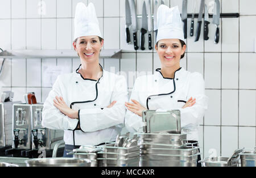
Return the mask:
<svg viewBox="0 0 256 178">
<path fill-rule="evenodd" d="M 73 42 L 73 47 L 81 62 L 93 63 L 98 62 L 103 43 L 104 40 L 100 41 L 98 36 L 82 36 Z"/>
</svg>

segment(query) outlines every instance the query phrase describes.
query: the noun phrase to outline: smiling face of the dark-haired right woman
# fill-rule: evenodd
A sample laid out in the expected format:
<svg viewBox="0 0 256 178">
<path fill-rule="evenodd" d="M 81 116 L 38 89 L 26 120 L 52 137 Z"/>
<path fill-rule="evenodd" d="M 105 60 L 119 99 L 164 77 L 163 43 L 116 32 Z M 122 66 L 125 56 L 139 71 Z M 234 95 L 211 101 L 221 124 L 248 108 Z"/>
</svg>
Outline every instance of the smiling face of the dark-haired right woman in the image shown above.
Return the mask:
<svg viewBox="0 0 256 178">
<path fill-rule="evenodd" d="M 184 54 L 186 45 L 181 45 L 179 39 L 163 39 L 155 45 L 156 52 L 160 58 L 162 68 L 172 67 L 179 69 L 180 58 Z"/>
</svg>

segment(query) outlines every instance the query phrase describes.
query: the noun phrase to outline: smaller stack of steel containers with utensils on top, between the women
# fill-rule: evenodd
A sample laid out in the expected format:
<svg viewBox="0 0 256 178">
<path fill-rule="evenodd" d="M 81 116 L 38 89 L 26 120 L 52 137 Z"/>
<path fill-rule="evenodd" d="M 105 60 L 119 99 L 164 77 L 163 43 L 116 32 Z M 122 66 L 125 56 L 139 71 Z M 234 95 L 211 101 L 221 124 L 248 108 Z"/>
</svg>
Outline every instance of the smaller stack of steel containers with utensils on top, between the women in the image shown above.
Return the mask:
<svg viewBox="0 0 256 178">
<path fill-rule="evenodd" d="M 102 145 L 102 151 L 97 160 L 104 167 L 138 167 L 139 166 L 139 147 L 138 136 L 129 138 L 126 135 L 118 135 L 113 143 Z"/>
</svg>

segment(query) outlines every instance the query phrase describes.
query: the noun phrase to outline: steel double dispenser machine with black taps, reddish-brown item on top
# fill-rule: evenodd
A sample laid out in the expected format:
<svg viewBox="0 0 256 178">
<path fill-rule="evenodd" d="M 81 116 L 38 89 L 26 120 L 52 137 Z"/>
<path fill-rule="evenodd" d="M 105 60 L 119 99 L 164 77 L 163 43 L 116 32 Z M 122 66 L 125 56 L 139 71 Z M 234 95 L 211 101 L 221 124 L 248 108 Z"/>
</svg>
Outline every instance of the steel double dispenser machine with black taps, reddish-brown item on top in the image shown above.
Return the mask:
<svg viewBox="0 0 256 178">
<path fill-rule="evenodd" d="M 63 139 L 63 130 L 52 130 L 42 126 L 43 104 L 36 103 L 28 93 L 26 103 L 13 104 L 13 148 L 6 155 L 24 158 L 51 157 L 56 141 Z M 32 100 L 31 100 L 32 98 Z M 34 101 L 33 101 L 34 100 Z M 63 155 L 64 148 L 57 156 Z"/>
</svg>

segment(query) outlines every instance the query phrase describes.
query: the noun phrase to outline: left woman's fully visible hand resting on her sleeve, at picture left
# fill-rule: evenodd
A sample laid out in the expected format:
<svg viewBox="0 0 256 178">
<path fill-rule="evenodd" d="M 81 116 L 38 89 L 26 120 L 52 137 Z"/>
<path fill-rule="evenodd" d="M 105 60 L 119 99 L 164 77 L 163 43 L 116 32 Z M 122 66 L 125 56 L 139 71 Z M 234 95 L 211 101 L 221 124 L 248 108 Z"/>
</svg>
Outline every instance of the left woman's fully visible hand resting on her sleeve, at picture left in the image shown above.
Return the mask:
<svg viewBox="0 0 256 178">
<path fill-rule="evenodd" d="M 56 108 L 60 109 L 60 112 L 62 112 L 64 115 L 70 118 L 79 117 L 78 111 L 69 108 L 61 96 L 60 97 L 56 96 L 55 99 L 53 99 L 53 105 L 55 105 Z"/>
</svg>

